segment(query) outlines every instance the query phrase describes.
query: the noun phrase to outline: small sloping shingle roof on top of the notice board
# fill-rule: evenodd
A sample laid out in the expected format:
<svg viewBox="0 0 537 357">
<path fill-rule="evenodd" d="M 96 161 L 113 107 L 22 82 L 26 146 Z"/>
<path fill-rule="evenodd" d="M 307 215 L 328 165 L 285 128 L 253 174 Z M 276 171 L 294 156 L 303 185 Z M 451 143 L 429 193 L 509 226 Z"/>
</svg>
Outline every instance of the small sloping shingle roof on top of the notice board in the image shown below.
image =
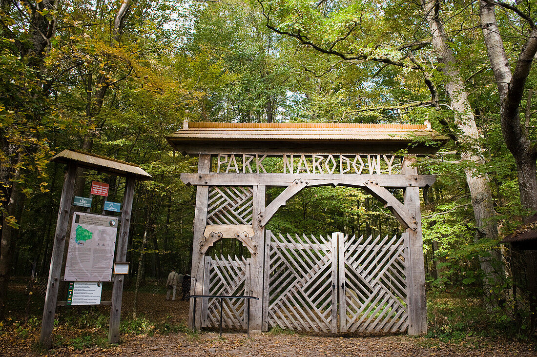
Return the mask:
<svg viewBox="0 0 537 357">
<path fill-rule="evenodd" d="M 79 150 L 63 150 L 50 161 L 60 163 L 76 162 L 78 165 L 88 169 L 110 171 L 120 176 L 134 176 L 139 180 L 151 178 L 151 175 L 138 165 Z"/>
</svg>

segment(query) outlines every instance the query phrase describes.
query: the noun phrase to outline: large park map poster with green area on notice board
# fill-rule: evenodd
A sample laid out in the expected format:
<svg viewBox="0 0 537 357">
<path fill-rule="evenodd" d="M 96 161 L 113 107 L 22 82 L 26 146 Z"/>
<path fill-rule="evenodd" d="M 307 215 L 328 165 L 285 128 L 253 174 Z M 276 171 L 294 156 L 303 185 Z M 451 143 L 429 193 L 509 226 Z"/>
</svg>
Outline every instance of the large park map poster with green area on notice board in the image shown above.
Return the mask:
<svg viewBox="0 0 537 357">
<path fill-rule="evenodd" d="M 118 217 L 75 212 L 72 217 L 66 281 L 110 281 Z"/>
</svg>

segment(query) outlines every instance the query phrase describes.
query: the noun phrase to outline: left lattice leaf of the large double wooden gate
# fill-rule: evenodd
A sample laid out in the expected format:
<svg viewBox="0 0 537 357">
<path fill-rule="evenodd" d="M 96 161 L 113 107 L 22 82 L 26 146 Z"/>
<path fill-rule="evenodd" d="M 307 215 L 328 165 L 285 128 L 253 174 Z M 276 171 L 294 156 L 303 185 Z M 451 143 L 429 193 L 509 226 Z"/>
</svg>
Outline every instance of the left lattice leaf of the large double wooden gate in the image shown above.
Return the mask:
<svg viewBox="0 0 537 357">
<path fill-rule="evenodd" d="M 271 250 L 266 263 L 270 269 L 269 326 L 335 332 L 337 314 L 332 314 L 332 307 L 337 297 L 332 280 L 337 275 L 331 237 L 275 237 L 267 231 L 267 239 Z"/>
</svg>

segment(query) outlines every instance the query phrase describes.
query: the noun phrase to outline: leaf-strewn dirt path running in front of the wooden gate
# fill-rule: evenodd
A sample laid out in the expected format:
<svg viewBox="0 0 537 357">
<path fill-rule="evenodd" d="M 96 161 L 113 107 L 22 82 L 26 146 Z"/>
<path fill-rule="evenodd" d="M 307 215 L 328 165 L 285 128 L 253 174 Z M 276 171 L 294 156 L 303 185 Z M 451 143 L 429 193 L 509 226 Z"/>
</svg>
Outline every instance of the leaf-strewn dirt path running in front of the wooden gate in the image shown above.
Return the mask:
<svg viewBox="0 0 537 357">
<path fill-rule="evenodd" d="M 433 345 L 437 344 L 437 345 Z M 300 334 L 203 333 L 192 339 L 185 334 L 129 341 L 109 351 L 114 356 L 535 356 L 534 346 L 494 343 L 482 346 L 438 344 L 407 336 L 320 337 Z"/>
</svg>

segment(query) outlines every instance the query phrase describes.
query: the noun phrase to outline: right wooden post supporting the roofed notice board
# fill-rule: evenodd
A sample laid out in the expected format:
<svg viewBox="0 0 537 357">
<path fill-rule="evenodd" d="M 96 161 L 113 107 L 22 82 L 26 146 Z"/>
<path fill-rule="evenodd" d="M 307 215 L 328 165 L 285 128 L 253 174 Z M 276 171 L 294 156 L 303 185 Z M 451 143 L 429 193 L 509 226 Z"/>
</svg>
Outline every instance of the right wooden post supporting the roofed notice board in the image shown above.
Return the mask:
<svg viewBox="0 0 537 357">
<path fill-rule="evenodd" d="M 127 246 L 129 242 L 130 215 L 134 200 L 134 185 L 136 179 L 127 177 L 121 211 L 121 224 L 119 227 L 118 245 L 115 249 L 115 261 L 127 260 Z M 119 324 L 121 320 L 121 300 L 123 297 L 124 275 L 115 275 L 112 286 L 112 307 L 110 309 L 110 326 L 108 327 L 108 343 L 119 342 Z"/>
</svg>

